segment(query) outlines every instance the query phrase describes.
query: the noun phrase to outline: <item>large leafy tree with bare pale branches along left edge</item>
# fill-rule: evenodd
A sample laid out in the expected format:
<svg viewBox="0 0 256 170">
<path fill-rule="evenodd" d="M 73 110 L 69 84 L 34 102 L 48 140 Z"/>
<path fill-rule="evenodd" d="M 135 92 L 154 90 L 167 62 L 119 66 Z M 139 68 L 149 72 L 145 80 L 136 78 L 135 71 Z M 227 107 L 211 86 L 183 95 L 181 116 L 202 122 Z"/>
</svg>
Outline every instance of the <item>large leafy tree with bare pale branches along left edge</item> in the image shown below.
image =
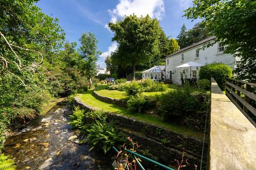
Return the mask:
<svg viewBox="0 0 256 170">
<path fill-rule="evenodd" d="M 5 112 L 23 94 L 41 91 L 44 66 L 54 60 L 64 33 L 32 0 L 0 1 L 0 8 L 0 112 Z"/>
</svg>

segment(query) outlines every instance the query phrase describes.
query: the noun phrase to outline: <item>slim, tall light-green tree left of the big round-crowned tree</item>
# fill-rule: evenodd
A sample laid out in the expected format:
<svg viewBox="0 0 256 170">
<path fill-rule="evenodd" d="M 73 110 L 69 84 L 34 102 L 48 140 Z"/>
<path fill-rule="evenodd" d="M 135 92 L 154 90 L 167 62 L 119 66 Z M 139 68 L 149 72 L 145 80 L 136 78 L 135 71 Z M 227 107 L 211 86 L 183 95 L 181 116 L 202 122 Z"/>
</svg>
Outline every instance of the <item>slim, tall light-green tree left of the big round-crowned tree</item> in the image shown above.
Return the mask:
<svg viewBox="0 0 256 170">
<path fill-rule="evenodd" d="M 99 55 L 101 54 L 97 47 L 98 40 L 92 32 L 88 32 L 83 33 L 79 41 L 81 43 L 81 47 L 79 47 L 79 52 L 86 61 L 84 64 L 84 69 L 86 71 L 88 79 L 90 80 L 90 87 L 92 87 L 92 78 L 97 72 L 96 62 Z"/>
</svg>

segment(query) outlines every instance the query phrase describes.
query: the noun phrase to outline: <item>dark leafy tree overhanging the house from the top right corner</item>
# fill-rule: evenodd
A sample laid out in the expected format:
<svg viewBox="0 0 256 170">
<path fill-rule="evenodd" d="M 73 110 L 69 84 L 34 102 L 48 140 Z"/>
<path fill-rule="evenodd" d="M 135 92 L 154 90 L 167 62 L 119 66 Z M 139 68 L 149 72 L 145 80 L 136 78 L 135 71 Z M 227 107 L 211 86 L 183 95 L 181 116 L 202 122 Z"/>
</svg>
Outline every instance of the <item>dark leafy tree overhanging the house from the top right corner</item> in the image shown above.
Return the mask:
<svg viewBox="0 0 256 170">
<path fill-rule="evenodd" d="M 188 19 L 200 18 L 205 22 L 215 41 L 226 45 L 225 53 L 239 57 L 235 73 L 237 78 L 256 82 L 256 2 L 193 1 L 194 6 L 185 10 Z"/>
</svg>

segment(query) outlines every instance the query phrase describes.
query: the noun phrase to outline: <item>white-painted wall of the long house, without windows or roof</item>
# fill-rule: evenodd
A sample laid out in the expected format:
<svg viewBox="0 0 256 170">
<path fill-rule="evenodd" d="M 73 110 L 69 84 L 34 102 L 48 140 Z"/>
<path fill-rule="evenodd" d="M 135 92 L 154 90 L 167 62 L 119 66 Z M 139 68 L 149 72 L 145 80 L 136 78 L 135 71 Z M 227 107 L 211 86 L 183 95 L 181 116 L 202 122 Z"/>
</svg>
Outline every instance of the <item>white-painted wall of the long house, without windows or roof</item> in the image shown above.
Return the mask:
<svg viewBox="0 0 256 170">
<path fill-rule="evenodd" d="M 179 54 L 166 57 L 165 63 L 166 63 L 166 80 L 172 80 L 172 83 L 174 84 L 181 84 L 181 72 L 185 70 L 184 78 L 190 78 L 190 67 L 183 67 L 183 68 L 176 68 L 179 65 L 185 64 L 187 62 L 196 62 L 200 64 L 209 64 L 209 63 L 225 63 L 228 64 L 231 69 L 234 69 L 235 65 L 235 57 L 231 54 L 224 54 L 223 52 L 218 52 L 218 43 L 215 43 L 213 46 L 200 49 L 199 50 L 199 57 L 196 57 L 196 49 L 202 48 L 204 44 L 198 45 L 196 47 L 190 48 L 184 52 L 181 52 Z M 181 54 L 184 54 L 184 61 L 181 60 Z M 167 62 L 169 60 L 169 62 Z M 197 79 L 199 78 L 199 70 L 196 67 L 191 67 L 191 77 L 192 71 L 196 71 Z M 171 75 L 170 74 L 174 73 Z"/>
</svg>

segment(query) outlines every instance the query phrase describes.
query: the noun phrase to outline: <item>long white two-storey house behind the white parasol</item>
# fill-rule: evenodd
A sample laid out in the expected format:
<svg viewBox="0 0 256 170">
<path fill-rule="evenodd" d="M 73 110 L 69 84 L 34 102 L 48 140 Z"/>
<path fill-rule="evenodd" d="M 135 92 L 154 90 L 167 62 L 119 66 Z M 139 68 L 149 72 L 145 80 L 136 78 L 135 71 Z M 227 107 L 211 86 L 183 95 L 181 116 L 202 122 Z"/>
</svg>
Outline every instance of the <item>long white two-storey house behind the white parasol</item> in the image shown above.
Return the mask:
<svg viewBox="0 0 256 170">
<path fill-rule="evenodd" d="M 231 69 L 235 66 L 235 57 L 231 54 L 224 54 L 225 47 L 221 42 L 215 43 L 210 47 L 202 49 L 206 43 L 214 42 L 215 37 L 210 37 L 199 41 L 196 44 L 182 48 L 177 52 L 165 57 L 165 80 L 172 81 L 174 84 L 182 84 L 182 79 L 198 80 L 200 67 L 177 67 L 188 62 L 195 62 L 205 65 L 209 63 L 225 63 Z M 190 70 L 191 68 L 191 70 Z"/>
</svg>

